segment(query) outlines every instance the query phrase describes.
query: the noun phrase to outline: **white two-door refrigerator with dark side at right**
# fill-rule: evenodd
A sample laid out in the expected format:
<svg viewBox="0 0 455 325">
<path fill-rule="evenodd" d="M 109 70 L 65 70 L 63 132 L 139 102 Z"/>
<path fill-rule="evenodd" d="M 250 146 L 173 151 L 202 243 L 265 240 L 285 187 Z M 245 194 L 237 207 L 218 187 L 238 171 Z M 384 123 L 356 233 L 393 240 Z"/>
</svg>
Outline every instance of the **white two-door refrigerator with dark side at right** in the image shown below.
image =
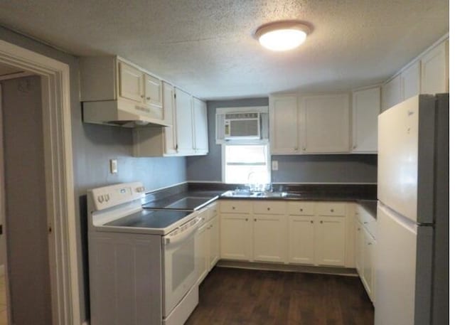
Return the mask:
<svg viewBox="0 0 455 325">
<path fill-rule="evenodd" d="M 375 325 L 449 324 L 449 95 L 378 118 Z"/>
</svg>

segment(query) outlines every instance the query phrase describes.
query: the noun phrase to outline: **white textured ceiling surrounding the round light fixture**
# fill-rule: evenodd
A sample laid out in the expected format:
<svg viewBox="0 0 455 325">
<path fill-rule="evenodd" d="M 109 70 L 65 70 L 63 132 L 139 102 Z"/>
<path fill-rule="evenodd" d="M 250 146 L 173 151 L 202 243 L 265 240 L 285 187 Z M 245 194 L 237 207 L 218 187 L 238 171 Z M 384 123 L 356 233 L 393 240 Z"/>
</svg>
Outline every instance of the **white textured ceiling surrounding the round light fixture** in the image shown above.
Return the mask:
<svg viewBox="0 0 455 325">
<path fill-rule="evenodd" d="M 311 23 L 304 46 L 261 48 L 256 28 L 282 19 Z M 120 55 L 208 100 L 381 82 L 449 31 L 449 1 L 15 0 L 0 2 L 0 24 L 74 55 Z"/>
</svg>

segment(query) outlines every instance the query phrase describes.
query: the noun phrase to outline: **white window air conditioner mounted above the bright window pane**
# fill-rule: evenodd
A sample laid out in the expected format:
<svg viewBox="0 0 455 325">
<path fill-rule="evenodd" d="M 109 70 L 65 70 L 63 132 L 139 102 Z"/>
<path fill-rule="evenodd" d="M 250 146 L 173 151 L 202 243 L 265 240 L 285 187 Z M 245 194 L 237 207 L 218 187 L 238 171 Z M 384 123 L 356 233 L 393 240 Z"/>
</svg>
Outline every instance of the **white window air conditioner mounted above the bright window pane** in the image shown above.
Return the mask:
<svg viewBox="0 0 455 325">
<path fill-rule="evenodd" d="M 224 115 L 224 139 L 260 139 L 261 114 L 258 112 Z"/>
</svg>

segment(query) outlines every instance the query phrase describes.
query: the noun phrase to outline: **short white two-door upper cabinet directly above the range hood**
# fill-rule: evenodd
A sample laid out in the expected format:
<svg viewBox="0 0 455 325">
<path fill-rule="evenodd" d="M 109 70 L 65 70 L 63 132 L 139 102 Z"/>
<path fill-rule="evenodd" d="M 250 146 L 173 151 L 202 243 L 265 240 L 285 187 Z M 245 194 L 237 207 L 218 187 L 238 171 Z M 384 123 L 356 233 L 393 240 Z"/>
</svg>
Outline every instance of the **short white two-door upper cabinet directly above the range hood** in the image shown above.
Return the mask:
<svg viewBox="0 0 455 325">
<path fill-rule="evenodd" d="M 122 101 L 154 119 L 163 119 L 162 82 L 117 56 L 80 58 L 81 102 Z"/>
</svg>

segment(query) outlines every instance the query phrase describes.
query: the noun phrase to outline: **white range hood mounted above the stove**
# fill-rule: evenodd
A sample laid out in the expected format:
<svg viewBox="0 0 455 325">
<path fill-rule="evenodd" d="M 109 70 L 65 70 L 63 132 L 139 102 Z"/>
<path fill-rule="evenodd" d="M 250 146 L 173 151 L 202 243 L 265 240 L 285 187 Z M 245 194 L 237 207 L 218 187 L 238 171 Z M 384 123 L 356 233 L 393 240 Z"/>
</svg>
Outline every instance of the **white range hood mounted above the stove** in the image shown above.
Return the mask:
<svg viewBox="0 0 455 325">
<path fill-rule="evenodd" d="M 87 123 L 117 127 L 170 127 L 164 122 L 163 107 L 141 107 L 126 100 L 82 102 Z"/>
</svg>

